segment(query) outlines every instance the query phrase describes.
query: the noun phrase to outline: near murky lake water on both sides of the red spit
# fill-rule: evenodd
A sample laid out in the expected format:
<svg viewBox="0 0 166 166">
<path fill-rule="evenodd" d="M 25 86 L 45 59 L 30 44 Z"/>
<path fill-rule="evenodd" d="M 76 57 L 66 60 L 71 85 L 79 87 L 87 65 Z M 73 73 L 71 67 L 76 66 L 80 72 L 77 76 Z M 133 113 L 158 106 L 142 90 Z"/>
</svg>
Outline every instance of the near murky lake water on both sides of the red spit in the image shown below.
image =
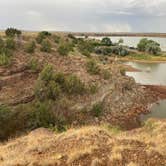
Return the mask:
<svg viewBox="0 0 166 166">
<path fill-rule="evenodd" d="M 134 68 L 140 69 L 142 72 L 127 72 L 128 76 L 134 77 L 137 83 L 150 85 L 165 85 L 166 86 L 166 63 L 136 63 L 127 62 Z M 151 107 L 151 113 L 142 115 L 141 119 L 148 118 L 166 118 L 166 100 L 162 100 Z"/>
</svg>

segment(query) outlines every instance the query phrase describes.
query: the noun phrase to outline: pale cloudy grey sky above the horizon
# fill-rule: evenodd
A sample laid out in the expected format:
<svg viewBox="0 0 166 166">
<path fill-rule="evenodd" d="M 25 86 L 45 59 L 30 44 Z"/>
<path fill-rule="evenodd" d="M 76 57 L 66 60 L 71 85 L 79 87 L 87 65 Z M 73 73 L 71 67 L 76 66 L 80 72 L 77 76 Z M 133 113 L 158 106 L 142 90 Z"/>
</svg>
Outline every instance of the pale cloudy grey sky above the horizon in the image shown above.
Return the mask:
<svg viewBox="0 0 166 166">
<path fill-rule="evenodd" d="M 166 0 L 0 0 L 0 29 L 166 32 Z"/>
</svg>

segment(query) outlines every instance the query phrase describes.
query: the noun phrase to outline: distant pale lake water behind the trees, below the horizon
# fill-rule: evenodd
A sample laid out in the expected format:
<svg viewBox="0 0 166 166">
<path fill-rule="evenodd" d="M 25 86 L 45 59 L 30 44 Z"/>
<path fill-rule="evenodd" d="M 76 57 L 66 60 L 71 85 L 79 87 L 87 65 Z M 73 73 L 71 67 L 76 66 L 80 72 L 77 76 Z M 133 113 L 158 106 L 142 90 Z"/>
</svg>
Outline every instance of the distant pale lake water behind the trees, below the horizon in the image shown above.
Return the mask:
<svg viewBox="0 0 166 166">
<path fill-rule="evenodd" d="M 89 36 L 89 38 L 95 38 L 101 40 L 103 37 L 92 37 Z M 137 44 L 139 41 L 144 38 L 144 37 L 110 37 L 113 42 L 118 42 L 119 39 L 123 39 L 124 43 L 123 45 L 127 45 L 130 47 L 137 47 Z M 148 39 L 152 39 L 156 42 L 158 42 L 161 46 L 161 49 L 163 51 L 166 51 L 166 38 L 157 38 L 157 37 L 148 37 Z"/>
</svg>

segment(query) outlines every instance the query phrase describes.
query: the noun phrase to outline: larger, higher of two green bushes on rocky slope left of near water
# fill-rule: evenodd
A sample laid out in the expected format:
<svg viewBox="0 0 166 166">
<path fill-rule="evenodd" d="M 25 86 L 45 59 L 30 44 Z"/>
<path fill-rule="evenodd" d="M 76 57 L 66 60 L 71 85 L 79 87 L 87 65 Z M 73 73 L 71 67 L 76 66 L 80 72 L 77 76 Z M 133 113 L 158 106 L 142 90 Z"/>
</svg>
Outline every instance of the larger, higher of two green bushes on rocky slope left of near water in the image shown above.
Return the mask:
<svg viewBox="0 0 166 166">
<path fill-rule="evenodd" d="M 96 61 L 94 60 L 89 60 L 86 64 L 86 69 L 87 72 L 90 74 L 99 74 L 100 73 L 100 68 Z"/>
</svg>

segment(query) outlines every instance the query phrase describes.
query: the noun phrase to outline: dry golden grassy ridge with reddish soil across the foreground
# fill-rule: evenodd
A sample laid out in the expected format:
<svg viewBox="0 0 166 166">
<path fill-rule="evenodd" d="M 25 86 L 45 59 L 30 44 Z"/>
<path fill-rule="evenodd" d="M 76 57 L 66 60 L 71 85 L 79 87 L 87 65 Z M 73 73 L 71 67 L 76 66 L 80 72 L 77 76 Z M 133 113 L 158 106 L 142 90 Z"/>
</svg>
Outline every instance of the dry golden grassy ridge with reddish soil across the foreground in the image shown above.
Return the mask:
<svg viewBox="0 0 166 166">
<path fill-rule="evenodd" d="M 55 134 L 40 128 L 0 145 L 0 165 L 164 166 L 165 129 L 159 120 L 127 132 L 88 126 Z"/>
</svg>

